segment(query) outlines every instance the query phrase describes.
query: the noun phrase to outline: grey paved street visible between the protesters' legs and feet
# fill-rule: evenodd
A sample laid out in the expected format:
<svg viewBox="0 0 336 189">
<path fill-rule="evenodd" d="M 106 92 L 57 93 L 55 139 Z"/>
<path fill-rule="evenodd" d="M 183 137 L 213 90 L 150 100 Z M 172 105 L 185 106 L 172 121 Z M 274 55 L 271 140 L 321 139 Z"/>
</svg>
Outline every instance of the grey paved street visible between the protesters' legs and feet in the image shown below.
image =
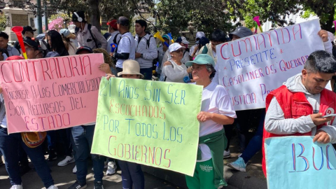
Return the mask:
<svg viewBox="0 0 336 189">
<path fill-rule="evenodd" d="M 224 159 L 223 162 L 225 164 L 224 167 L 224 177 L 228 181 L 230 177 L 235 174 L 239 173 L 235 170 L 230 169 L 228 166 L 228 163 L 233 162 L 237 160 L 237 155 L 239 155 L 238 151 L 238 139 L 237 137 L 232 137 L 232 142 L 230 146 L 230 151 L 232 158 Z M 47 158 L 48 156 L 45 156 Z M 244 181 L 244 179 L 249 179 L 250 176 L 253 176 L 254 178 L 258 178 L 263 182 L 266 182 L 265 176 L 262 174 L 261 169 L 261 152 L 257 153 L 250 161 L 250 164 L 248 167 L 246 167 L 246 173 L 248 176 L 242 175 L 243 178 L 241 178 L 238 182 Z M 72 169 L 75 166 L 75 164 L 66 165 L 64 167 L 58 167 L 57 162 L 62 160 L 62 158 L 58 158 L 57 160 L 53 162 L 48 162 L 50 169 L 52 169 L 52 177 L 58 186 L 59 189 L 66 189 L 69 186 L 71 186 L 72 183 L 76 180 L 76 174 L 72 173 Z M 30 164 L 31 167 L 33 167 L 32 164 Z M 93 182 L 94 182 L 94 174 L 91 170 L 92 168 L 92 162 L 88 162 L 89 169 L 88 169 L 88 175 L 87 175 L 87 188 L 93 188 Z M 106 172 L 106 169 L 104 170 L 104 173 Z M 104 176 L 104 187 L 107 189 L 110 188 L 122 188 L 121 184 L 121 176 L 120 176 L 120 170 L 114 174 L 113 176 Z M 151 174 L 145 174 L 145 188 L 146 189 L 173 189 L 173 188 L 181 188 L 176 187 L 172 185 L 172 183 L 169 183 L 165 180 L 159 179 Z M 40 189 L 43 188 L 43 183 L 41 179 L 38 177 L 34 169 L 29 171 L 27 174 L 22 176 L 22 181 L 25 189 Z M 176 183 L 177 184 L 177 183 Z M 230 182 L 229 182 L 230 184 Z M 232 183 L 233 184 L 233 183 Z M 182 184 L 183 185 L 183 184 Z M 237 187 L 237 186 L 236 186 Z M 5 166 L 2 165 L 0 167 L 0 189 L 9 189 L 10 183 L 8 179 L 8 174 L 6 172 Z M 261 187 L 260 187 L 261 188 Z M 183 189 L 183 188 L 181 188 Z M 225 189 L 237 189 L 233 186 L 228 186 Z"/>
</svg>

